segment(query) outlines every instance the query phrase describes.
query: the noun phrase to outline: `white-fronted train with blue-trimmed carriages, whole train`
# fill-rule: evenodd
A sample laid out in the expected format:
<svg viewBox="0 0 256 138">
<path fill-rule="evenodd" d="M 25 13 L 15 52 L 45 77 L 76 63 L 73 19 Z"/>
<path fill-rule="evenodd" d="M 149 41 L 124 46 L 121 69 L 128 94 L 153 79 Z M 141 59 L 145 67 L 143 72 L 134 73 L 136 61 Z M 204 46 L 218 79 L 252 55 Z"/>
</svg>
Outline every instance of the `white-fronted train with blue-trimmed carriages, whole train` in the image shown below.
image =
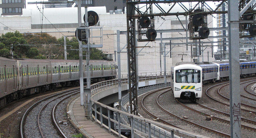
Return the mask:
<svg viewBox="0 0 256 138">
<path fill-rule="evenodd" d="M 202 96 L 203 84 L 229 79 L 229 64 L 178 63 L 171 67 L 171 74 L 174 98 L 196 101 Z M 240 62 L 241 78 L 254 75 L 256 75 L 256 61 Z"/>
</svg>

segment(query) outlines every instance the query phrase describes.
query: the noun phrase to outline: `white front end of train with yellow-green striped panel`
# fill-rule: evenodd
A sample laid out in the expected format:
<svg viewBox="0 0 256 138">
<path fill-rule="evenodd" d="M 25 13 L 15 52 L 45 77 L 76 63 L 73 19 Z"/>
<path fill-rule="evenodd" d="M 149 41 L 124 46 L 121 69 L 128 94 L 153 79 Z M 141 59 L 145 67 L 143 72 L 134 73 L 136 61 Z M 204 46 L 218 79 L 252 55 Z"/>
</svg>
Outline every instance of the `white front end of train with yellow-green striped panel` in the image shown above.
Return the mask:
<svg viewBox="0 0 256 138">
<path fill-rule="evenodd" d="M 174 98 L 196 101 L 202 97 L 202 67 L 193 64 L 177 65 L 171 68 L 171 73 Z"/>
</svg>

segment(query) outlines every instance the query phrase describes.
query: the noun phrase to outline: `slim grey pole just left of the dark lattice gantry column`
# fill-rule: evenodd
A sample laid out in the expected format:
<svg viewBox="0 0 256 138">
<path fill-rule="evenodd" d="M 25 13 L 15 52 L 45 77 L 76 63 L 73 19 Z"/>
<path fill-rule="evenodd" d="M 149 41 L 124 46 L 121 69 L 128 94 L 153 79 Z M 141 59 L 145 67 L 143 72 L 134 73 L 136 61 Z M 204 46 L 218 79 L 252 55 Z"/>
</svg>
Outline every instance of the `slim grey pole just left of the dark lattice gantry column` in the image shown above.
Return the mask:
<svg viewBox="0 0 256 138">
<path fill-rule="evenodd" d="M 121 89 L 121 57 L 120 57 L 120 31 L 116 31 L 116 41 L 117 41 L 117 77 L 118 77 L 118 109 L 121 110 L 122 101 L 122 89 Z M 115 56 L 116 57 L 116 56 Z"/>
</svg>

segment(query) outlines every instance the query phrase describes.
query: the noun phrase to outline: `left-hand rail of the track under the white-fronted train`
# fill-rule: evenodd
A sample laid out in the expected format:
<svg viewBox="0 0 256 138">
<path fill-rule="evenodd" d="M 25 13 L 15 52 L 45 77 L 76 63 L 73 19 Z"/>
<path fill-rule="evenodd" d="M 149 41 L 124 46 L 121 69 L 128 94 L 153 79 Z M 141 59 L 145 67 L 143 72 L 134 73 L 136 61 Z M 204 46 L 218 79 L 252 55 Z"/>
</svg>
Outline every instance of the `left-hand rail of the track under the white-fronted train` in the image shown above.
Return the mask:
<svg viewBox="0 0 256 138">
<path fill-rule="evenodd" d="M 230 121 L 228 121 L 228 120 L 226 120 L 226 119 L 222 119 L 222 118 L 219 118 L 219 117 L 216 117 L 216 116 L 212 116 L 212 115 L 210 115 L 210 114 L 207 114 L 207 113 L 204 113 L 204 112 L 202 112 L 202 111 L 198 111 L 198 110 L 196 110 L 196 109 L 193 109 L 193 108 L 191 108 L 191 107 L 188 107 L 188 106 L 186 106 L 185 104 L 181 103 L 181 102 L 180 102 L 179 100 L 177 100 L 177 99 L 176 99 L 176 101 L 177 101 L 181 106 L 183 106 L 183 107 L 185 107 L 185 108 L 187 108 L 187 109 L 189 109 L 189 110 L 191 110 L 191 111 L 197 112 L 197 113 L 199 113 L 199 114 L 201 114 L 201 115 L 204 115 L 204 116 L 212 117 L 212 118 L 214 118 L 214 119 L 220 120 L 220 121 L 225 122 L 225 123 L 227 123 L 227 124 L 230 125 Z M 198 103 L 196 103 L 196 104 L 198 104 Z M 256 124 L 255 124 L 255 126 L 256 126 Z M 256 131 L 256 128 L 249 127 L 249 126 L 246 126 L 246 125 L 242 125 L 242 122 L 241 122 L 241 127 L 244 127 L 244 128 L 246 128 L 246 129 L 251 129 L 251 130 L 253 130 L 253 131 Z"/>
</svg>

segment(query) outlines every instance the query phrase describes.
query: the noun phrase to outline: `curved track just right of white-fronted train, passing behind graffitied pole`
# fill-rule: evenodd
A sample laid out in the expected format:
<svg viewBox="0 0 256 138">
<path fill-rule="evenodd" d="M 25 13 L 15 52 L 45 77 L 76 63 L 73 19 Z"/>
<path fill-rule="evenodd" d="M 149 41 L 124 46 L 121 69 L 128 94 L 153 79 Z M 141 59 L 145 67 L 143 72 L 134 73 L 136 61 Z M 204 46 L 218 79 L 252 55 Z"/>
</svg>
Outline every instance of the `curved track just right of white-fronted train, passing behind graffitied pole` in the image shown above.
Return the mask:
<svg viewBox="0 0 256 138">
<path fill-rule="evenodd" d="M 251 79 L 255 79 L 255 77 L 254 77 L 254 78 L 251 78 Z M 248 79 L 242 79 L 241 81 L 246 81 L 245 83 L 247 83 L 247 82 L 248 82 Z M 250 80 L 250 81 L 256 81 L 256 80 Z M 212 86 L 212 87 L 206 89 L 206 91 L 205 91 L 206 95 L 207 95 L 209 98 L 211 98 L 212 100 L 214 100 L 214 101 L 216 101 L 216 102 L 218 102 L 218 103 L 221 103 L 221 104 L 224 104 L 224 105 L 229 106 L 228 101 L 223 102 L 223 100 L 221 100 L 221 99 L 214 98 L 213 96 L 211 96 L 211 94 L 210 94 L 210 92 L 209 92 L 212 88 L 225 84 L 225 85 L 221 86 L 221 87 L 217 90 L 217 93 L 218 93 L 218 95 L 220 95 L 221 97 L 223 97 L 225 100 L 229 100 L 228 97 L 225 97 L 225 96 L 223 96 L 222 94 L 220 94 L 220 89 L 223 88 L 223 87 L 225 87 L 225 86 L 227 86 L 227 85 L 229 85 L 229 84 L 227 84 L 227 83 L 229 83 L 229 82 L 224 82 L 224 83 L 216 84 L 216 85 L 214 85 L 214 86 Z M 251 106 L 251 105 L 248 105 L 248 104 L 241 103 L 241 110 L 242 110 L 242 111 L 246 111 L 246 112 L 252 112 L 252 113 L 256 114 L 256 112 L 255 112 L 256 107 Z"/>
</svg>

